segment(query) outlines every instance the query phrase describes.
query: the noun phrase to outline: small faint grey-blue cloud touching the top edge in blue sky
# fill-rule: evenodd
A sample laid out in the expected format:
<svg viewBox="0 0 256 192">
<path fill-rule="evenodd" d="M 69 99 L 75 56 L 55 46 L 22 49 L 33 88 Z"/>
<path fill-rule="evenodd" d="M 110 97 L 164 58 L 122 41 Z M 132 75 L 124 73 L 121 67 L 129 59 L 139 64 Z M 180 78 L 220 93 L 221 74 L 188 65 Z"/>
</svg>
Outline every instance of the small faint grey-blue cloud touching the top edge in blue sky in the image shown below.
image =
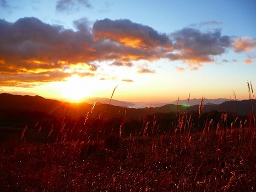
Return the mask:
<svg viewBox="0 0 256 192">
<path fill-rule="evenodd" d="M 57 12 L 73 12 L 81 7 L 92 8 L 89 0 L 58 0 L 56 4 Z"/>
</svg>

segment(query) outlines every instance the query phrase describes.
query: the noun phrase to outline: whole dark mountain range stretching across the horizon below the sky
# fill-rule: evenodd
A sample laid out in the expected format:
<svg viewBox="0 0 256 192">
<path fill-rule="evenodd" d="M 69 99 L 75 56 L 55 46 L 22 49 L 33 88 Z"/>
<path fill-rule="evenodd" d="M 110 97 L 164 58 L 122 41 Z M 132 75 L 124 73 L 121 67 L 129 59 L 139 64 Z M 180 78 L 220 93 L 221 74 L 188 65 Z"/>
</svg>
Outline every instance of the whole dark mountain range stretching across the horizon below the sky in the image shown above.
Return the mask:
<svg viewBox="0 0 256 192">
<path fill-rule="evenodd" d="M 91 100 L 92 101 L 92 100 Z M 95 100 L 94 100 L 95 101 Z M 166 105 L 157 107 L 144 107 L 144 108 L 129 108 L 132 106 L 138 106 L 138 103 L 121 102 L 117 100 L 111 100 L 111 105 L 108 105 L 109 99 L 98 98 L 98 102 L 93 107 L 91 103 L 69 103 L 57 100 L 51 100 L 43 98 L 41 96 L 21 96 L 12 94 L 0 94 L 0 112 L 2 114 L 5 111 L 30 111 L 30 112 L 42 112 L 50 114 L 56 117 L 72 117 L 79 118 L 81 116 L 86 116 L 90 113 L 92 117 L 102 117 L 107 116 L 108 118 L 124 117 L 126 119 L 141 119 L 146 114 L 155 113 L 170 113 L 177 111 L 192 112 L 198 111 L 200 99 L 189 100 L 189 104 L 192 106 L 187 106 L 187 100 L 179 100 L 179 104 L 176 102 L 168 103 Z M 106 103 L 104 103 L 104 101 Z M 223 101 L 223 102 L 222 102 Z M 102 102 L 102 103 L 101 103 Z M 182 104 L 186 105 L 182 105 Z M 196 105 L 193 105 L 197 103 Z M 206 104 L 204 104 L 206 103 Z M 219 103 L 219 104 L 214 104 Z M 255 100 L 242 100 L 242 101 L 230 101 L 227 99 L 219 98 L 217 100 L 205 99 L 203 102 L 204 108 L 203 113 L 208 113 L 210 111 L 217 112 L 235 112 L 238 116 L 247 116 L 248 112 L 256 112 L 256 102 Z M 118 106 L 119 105 L 119 106 Z M 141 105 L 141 103 L 139 104 Z M 92 111 L 93 108 L 93 111 Z M 92 111 L 92 112 L 91 112 Z"/>
</svg>

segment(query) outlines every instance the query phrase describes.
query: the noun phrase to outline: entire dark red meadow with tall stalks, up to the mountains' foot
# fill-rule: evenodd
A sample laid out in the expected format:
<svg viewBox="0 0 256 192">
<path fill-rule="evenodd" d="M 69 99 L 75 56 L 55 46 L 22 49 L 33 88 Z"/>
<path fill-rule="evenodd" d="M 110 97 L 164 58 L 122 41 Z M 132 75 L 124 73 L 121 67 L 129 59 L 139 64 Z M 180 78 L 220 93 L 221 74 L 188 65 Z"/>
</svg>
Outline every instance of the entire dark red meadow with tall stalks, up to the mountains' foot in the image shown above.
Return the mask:
<svg viewBox="0 0 256 192">
<path fill-rule="evenodd" d="M 203 113 L 202 98 L 197 112 L 128 122 L 91 118 L 94 106 L 79 121 L 37 122 L 2 140 L 0 191 L 256 190 L 253 110 Z"/>
</svg>

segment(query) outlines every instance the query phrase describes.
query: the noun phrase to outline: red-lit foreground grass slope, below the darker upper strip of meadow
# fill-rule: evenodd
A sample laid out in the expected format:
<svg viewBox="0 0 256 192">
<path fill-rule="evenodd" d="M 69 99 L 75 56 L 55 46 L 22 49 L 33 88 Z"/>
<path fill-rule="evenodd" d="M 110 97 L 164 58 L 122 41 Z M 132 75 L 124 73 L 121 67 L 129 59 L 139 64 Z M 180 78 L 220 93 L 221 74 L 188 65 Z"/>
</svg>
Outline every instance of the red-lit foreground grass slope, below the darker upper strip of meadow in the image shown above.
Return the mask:
<svg viewBox="0 0 256 192">
<path fill-rule="evenodd" d="M 0 191 L 255 191 L 255 133 L 134 136 L 108 147 L 97 140 L 82 154 L 92 141 L 9 140 L 1 144 Z"/>
</svg>

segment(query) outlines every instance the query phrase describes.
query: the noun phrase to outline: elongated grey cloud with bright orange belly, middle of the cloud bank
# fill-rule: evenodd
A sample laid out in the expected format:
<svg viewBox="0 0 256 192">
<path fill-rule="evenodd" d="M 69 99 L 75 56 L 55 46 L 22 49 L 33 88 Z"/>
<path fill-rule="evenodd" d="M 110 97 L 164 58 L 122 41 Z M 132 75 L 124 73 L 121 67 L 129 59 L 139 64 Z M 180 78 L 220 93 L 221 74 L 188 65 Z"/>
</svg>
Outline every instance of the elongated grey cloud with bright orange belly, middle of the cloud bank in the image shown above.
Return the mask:
<svg viewBox="0 0 256 192">
<path fill-rule="evenodd" d="M 110 39 L 126 47 L 172 48 L 171 41 L 166 34 L 160 34 L 149 26 L 133 23 L 128 19 L 97 20 L 92 29 L 96 39 Z"/>
</svg>

